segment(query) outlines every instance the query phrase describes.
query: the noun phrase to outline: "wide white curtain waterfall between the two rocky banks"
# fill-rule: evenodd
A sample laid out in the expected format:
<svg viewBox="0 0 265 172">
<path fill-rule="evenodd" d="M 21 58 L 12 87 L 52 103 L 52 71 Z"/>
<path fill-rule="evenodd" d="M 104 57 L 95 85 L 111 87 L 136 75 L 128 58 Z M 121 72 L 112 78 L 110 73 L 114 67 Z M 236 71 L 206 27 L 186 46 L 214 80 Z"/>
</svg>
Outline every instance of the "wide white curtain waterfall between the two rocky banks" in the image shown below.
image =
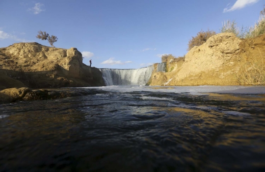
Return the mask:
<svg viewBox="0 0 265 172">
<path fill-rule="evenodd" d="M 106 85 L 145 85 L 154 66 L 140 69 L 100 69 Z"/>
</svg>

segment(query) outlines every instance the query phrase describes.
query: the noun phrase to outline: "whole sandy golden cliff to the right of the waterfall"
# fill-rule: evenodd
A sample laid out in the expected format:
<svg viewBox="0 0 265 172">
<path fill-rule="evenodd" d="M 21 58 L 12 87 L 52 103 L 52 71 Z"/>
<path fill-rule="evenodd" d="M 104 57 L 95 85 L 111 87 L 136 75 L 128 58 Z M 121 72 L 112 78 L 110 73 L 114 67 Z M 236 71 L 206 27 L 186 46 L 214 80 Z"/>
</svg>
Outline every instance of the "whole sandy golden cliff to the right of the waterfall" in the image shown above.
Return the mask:
<svg viewBox="0 0 265 172">
<path fill-rule="evenodd" d="M 150 85 L 247 84 L 239 76 L 262 63 L 265 68 L 265 34 L 239 39 L 233 33 L 219 33 L 190 49 L 185 61 L 167 61 L 167 72 L 152 74 Z"/>
</svg>

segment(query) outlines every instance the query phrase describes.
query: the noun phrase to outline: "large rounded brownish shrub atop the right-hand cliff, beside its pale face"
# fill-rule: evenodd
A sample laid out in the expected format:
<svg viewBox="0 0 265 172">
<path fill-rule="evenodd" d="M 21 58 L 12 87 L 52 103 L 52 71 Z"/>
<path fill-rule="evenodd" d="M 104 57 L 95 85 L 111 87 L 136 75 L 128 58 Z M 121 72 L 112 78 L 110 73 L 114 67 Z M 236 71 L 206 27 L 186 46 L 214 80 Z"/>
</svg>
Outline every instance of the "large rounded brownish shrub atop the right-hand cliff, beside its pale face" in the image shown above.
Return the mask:
<svg viewBox="0 0 265 172">
<path fill-rule="evenodd" d="M 207 30 L 205 31 L 200 31 L 197 33 L 197 36 L 192 37 L 191 40 L 188 41 L 188 51 L 192 49 L 194 46 L 200 46 L 203 43 L 205 43 L 212 35 L 215 35 L 215 31 Z"/>
</svg>

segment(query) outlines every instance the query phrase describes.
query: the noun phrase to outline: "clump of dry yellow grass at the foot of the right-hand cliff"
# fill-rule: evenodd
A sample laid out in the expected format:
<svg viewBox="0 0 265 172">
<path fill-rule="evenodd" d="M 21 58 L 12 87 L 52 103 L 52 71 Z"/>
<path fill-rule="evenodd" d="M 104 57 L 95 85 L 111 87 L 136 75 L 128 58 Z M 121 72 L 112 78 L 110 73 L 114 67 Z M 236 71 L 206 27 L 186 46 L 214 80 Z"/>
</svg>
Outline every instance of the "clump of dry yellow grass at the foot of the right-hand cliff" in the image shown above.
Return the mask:
<svg viewBox="0 0 265 172">
<path fill-rule="evenodd" d="M 265 84 L 265 69 L 264 69 L 262 54 L 261 54 L 261 59 L 262 63 L 250 62 L 240 67 L 240 71 L 237 73 L 239 84 L 247 84 L 247 85 Z"/>
</svg>

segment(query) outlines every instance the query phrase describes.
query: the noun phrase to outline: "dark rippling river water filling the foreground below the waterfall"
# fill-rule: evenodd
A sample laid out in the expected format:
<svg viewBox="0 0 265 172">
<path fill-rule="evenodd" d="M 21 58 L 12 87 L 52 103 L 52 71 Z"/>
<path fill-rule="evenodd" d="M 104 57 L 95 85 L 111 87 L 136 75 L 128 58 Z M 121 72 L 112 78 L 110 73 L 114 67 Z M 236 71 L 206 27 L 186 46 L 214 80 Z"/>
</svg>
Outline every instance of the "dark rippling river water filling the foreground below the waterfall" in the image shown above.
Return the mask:
<svg viewBox="0 0 265 172">
<path fill-rule="evenodd" d="M 0 171 L 265 171 L 265 87 L 87 89 L 0 104 Z"/>
</svg>

